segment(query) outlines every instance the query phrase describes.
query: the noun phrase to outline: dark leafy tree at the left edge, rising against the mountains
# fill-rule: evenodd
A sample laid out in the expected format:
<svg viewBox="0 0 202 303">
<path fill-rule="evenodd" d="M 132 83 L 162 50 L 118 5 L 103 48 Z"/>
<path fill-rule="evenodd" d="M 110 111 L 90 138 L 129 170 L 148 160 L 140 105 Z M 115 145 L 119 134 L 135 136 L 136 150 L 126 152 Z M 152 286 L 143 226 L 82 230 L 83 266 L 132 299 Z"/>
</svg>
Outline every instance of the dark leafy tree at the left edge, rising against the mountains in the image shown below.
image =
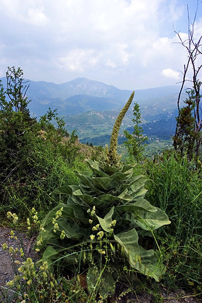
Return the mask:
<svg viewBox="0 0 202 303">
<path fill-rule="evenodd" d="M 8 67 L 7 89 L 0 83 L 0 167 L 7 174 L 16 170 L 30 150 L 29 130 L 37 123 L 30 117 L 27 108 L 29 101 L 26 91 L 29 85 L 23 85 L 23 71 Z M 28 144 L 29 142 L 29 144 Z"/>
</svg>

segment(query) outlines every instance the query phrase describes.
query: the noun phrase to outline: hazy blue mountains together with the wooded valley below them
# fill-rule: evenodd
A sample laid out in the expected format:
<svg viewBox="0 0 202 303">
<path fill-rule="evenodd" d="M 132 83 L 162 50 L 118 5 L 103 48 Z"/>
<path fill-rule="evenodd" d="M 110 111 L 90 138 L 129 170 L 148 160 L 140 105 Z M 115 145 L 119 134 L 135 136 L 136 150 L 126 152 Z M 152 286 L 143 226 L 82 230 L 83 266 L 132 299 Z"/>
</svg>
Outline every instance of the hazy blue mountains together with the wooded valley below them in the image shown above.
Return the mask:
<svg viewBox="0 0 202 303">
<path fill-rule="evenodd" d="M 6 77 L 1 79 L 6 87 Z M 45 81 L 30 81 L 27 91 L 31 99 L 31 115 L 42 116 L 50 107 L 58 109 L 64 117 L 69 132 L 77 130 L 83 142 L 105 145 L 109 142 L 112 128 L 120 109 L 125 105 L 132 90 L 121 90 L 115 86 L 86 78 L 55 84 Z M 134 102 L 141 110 L 142 126 L 147 136 L 169 139 L 175 130 L 177 97 L 179 86 L 164 86 L 135 90 Z M 185 99 L 185 94 L 182 94 Z M 127 112 L 120 129 L 132 131 L 133 104 Z"/>
</svg>

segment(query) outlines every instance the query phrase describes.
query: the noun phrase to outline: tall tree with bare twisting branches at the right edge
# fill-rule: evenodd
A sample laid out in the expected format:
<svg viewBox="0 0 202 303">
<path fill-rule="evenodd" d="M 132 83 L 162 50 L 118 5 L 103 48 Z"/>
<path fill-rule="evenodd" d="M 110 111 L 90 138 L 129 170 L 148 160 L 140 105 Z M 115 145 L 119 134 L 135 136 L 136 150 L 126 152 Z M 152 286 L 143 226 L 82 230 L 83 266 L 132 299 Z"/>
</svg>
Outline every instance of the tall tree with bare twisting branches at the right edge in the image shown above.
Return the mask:
<svg viewBox="0 0 202 303">
<path fill-rule="evenodd" d="M 201 46 L 202 46 L 202 36 L 198 39 L 194 37 L 195 34 L 195 20 L 198 10 L 197 8 L 194 16 L 193 23 L 189 19 L 189 9 L 187 6 L 188 13 L 188 38 L 183 40 L 180 32 L 174 32 L 177 34 L 180 43 L 187 52 L 188 60 L 184 65 L 183 80 L 181 82 L 181 88 L 178 95 L 177 107 L 178 107 L 178 117 L 176 118 L 176 131 L 173 137 L 173 145 L 176 151 L 180 151 L 184 154 L 185 151 L 188 153 L 189 159 L 193 156 L 199 156 L 199 148 L 202 145 L 202 112 L 200 108 L 200 87 L 202 64 L 201 64 Z M 187 73 L 189 69 L 192 69 L 192 79 L 187 79 Z M 180 97 L 183 87 L 189 81 L 192 83 L 192 87 L 186 92 L 188 93 L 188 98 L 185 100 L 185 106 L 180 108 Z"/>
</svg>

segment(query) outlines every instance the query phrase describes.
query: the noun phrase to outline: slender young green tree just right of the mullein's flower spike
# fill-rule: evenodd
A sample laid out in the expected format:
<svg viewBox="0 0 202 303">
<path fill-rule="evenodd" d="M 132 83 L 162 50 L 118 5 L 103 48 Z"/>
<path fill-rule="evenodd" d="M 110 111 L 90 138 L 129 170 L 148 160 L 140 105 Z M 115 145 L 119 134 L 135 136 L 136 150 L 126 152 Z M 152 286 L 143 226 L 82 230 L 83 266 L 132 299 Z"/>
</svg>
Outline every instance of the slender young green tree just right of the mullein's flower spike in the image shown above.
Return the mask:
<svg viewBox="0 0 202 303">
<path fill-rule="evenodd" d="M 143 136 L 143 129 L 140 126 L 141 114 L 139 105 L 137 103 L 134 103 L 133 116 L 133 132 L 130 134 L 127 130 L 124 130 L 124 135 L 127 139 L 127 141 L 124 141 L 124 145 L 127 147 L 130 157 L 138 162 L 143 158 L 143 151 L 145 146 L 144 142 L 148 140 L 148 138 L 146 136 Z"/>
</svg>

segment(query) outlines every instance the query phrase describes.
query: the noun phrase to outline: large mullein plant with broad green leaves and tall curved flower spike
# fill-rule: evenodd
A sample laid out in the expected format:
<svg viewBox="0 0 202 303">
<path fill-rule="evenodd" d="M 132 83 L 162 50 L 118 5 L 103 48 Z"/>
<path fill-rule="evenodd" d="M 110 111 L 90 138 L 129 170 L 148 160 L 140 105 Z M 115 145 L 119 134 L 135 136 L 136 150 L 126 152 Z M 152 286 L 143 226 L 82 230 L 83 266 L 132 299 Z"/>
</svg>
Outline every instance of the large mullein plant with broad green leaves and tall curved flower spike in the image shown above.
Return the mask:
<svg viewBox="0 0 202 303">
<path fill-rule="evenodd" d="M 35 244 L 50 267 L 86 271 L 91 293 L 113 292 L 124 271 L 159 281 L 165 270 L 158 243 L 159 251 L 147 243 L 149 237 L 156 241 L 154 230 L 170 221 L 144 198 L 147 180 L 133 176 L 135 164 L 124 164 L 117 154 L 120 125 L 133 96 L 115 122 L 103 159 L 86 161 L 90 171 L 77 172 L 79 185 L 54 191 L 65 195 L 64 202 L 46 215 Z"/>
</svg>

